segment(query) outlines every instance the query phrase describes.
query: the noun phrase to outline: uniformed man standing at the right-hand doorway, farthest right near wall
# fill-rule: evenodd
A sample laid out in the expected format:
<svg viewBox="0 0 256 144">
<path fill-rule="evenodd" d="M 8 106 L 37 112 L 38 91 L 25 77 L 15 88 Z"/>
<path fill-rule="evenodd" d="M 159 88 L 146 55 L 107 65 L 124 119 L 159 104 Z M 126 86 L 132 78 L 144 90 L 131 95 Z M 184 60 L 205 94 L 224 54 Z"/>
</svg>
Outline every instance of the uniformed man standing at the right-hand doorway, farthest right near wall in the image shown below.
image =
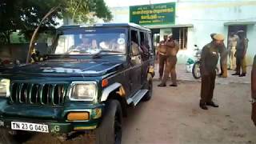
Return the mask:
<svg viewBox="0 0 256 144">
<path fill-rule="evenodd" d="M 245 77 L 246 76 L 246 51 L 248 47 L 249 40 L 246 38 L 245 32 L 243 30 L 238 31 L 238 45 L 237 45 L 237 51 L 236 51 L 236 73 L 232 75 L 239 75 L 239 77 Z M 242 74 L 241 74 L 241 68 L 242 68 Z"/>
</svg>

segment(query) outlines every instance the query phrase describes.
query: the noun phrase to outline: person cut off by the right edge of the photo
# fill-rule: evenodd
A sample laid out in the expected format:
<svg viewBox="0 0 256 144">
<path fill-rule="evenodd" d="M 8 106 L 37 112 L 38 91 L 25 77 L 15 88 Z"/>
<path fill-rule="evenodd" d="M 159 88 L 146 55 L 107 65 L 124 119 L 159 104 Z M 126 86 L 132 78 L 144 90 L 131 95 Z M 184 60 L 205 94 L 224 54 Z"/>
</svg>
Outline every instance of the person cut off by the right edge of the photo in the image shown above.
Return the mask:
<svg viewBox="0 0 256 144">
<path fill-rule="evenodd" d="M 251 98 L 252 98 L 252 110 L 251 119 L 256 126 L 256 55 L 254 56 L 254 64 L 251 70 Z"/>
</svg>

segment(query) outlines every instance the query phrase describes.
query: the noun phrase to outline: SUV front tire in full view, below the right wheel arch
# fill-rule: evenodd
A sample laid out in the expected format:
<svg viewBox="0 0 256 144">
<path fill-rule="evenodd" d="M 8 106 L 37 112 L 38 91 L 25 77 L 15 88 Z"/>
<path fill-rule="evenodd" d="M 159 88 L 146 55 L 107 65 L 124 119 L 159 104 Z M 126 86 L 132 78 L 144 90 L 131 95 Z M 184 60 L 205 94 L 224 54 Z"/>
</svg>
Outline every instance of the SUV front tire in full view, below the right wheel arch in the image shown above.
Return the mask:
<svg viewBox="0 0 256 144">
<path fill-rule="evenodd" d="M 121 144 L 122 141 L 122 108 L 117 100 L 106 103 L 106 113 L 102 123 L 95 130 L 96 144 Z"/>
</svg>

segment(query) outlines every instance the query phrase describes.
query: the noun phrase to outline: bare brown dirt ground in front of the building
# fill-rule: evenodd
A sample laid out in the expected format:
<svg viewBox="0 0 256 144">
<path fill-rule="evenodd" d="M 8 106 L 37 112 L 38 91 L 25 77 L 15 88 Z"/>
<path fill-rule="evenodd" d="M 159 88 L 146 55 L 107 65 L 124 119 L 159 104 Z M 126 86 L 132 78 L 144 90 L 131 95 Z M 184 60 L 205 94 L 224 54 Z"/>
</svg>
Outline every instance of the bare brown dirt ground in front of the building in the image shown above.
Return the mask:
<svg viewBox="0 0 256 144">
<path fill-rule="evenodd" d="M 218 84 L 214 98 L 220 107 L 210 110 L 198 106 L 199 82 L 180 82 L 177 88 L 157 85 L 150 102 L 131 108 L 124 118 L 123 144 L 256 144 L 249 84 Z M 50 139 L 38 134 L 27 143 L 59 143 Z"/>
</svg>

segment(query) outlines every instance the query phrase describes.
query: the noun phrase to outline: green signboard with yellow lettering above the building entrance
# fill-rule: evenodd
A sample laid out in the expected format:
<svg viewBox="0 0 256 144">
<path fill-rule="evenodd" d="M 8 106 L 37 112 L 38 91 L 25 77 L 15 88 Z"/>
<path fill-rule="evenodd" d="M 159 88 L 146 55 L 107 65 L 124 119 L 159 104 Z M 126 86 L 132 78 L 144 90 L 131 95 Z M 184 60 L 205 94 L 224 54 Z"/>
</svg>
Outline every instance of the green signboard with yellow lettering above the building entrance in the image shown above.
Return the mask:
<svg viewBox="0 0 256 144">
<path fill-rule="evenodd" d="M 172 25 L 175 23 L 175 2 L 130 6 L 130 22 L 142 26 Z"/>
</svg>

